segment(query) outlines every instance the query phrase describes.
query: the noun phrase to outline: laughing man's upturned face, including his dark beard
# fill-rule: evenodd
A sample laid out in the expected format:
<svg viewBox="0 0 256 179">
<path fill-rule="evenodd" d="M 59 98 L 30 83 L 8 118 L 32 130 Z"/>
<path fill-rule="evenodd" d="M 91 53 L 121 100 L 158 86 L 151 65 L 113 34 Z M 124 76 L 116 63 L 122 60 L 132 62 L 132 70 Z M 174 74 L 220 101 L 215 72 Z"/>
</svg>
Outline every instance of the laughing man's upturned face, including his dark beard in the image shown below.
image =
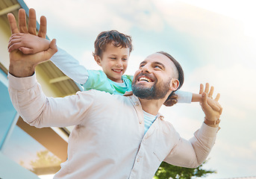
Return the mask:
<svg viewBox="0 0 256 179">
<path fill-rule="evenodd" d="M 160 99 L 172 90 L 174 63 L 163 54 L 155 53 L 140 63 L 135 72 L 132 90 L 144 99 Z"/>
</svg>

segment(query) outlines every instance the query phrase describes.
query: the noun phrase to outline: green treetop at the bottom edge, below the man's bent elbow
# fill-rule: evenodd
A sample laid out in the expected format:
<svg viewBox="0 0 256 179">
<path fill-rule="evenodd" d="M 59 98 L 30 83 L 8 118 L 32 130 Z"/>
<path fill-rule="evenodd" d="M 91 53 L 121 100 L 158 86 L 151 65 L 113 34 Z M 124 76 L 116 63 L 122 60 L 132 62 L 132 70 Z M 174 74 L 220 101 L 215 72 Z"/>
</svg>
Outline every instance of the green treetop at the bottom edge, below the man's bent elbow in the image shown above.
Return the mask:
<svg viewBox="0 0 256 179">
<path fill-rule="evenodd" d="M 203 164 L 205 163 L 207 163 L 207 161 L 205 161 Z M 157 172 L 154 174 L 154 179 L 190 179 L 193 177 L 205 178 L 209 174 L 216 173 L 215 170 L 202 169 L 202 165 L 196 169 L 189 169 L 180 166 L 172 166 L 163 162 L 157 169 Z"/>
</svg>

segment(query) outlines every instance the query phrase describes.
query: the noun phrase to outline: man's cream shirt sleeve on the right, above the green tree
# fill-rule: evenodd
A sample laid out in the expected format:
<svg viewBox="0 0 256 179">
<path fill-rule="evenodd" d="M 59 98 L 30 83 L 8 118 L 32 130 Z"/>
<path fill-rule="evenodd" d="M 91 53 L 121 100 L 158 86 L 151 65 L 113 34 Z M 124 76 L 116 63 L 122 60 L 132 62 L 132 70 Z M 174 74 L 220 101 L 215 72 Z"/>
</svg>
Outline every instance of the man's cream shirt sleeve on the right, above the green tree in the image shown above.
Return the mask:
<svg viewBox="0 0 256 179">
<path fill-rule="evenodd" d="M 164 161 L 187 168 L 196 168 L 202 165 L 213 148 L 218 130 L 219 128 L 212 128 L 203 123 L 190 140 L 180 137 Z"/>
</svg>

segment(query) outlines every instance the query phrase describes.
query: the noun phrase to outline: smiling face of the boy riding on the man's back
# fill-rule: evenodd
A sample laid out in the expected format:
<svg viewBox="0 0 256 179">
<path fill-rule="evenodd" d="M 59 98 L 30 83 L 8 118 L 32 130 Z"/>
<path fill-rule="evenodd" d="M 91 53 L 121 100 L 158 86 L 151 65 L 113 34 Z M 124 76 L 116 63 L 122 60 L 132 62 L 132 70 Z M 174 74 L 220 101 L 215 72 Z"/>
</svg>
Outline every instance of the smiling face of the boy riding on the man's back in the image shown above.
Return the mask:
<svg viewBox="0 0 256 179">
<path fill-rule="evenodd" d="M 111 81 L 122 83 L 122 75 L 128 65 L 130 57 L 129 48 L 116 47 L 112 43 L 107 44 L 102 52 L 102 57 L 95 56 L 96 62 L 102 66 L 103 72 Z"/>
</svg>

